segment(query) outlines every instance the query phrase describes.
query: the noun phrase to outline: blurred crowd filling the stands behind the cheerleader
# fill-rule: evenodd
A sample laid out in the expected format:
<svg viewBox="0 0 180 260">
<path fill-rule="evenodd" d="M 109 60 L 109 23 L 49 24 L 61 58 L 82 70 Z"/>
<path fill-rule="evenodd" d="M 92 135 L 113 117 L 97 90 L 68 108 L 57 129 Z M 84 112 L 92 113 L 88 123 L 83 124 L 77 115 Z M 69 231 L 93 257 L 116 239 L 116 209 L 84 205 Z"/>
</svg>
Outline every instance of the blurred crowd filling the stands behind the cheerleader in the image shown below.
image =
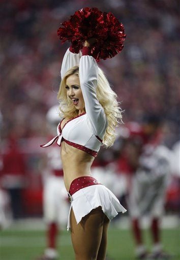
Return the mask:
<svg viewBox="0 0 180 260">
<path fill-rule="evenodd" d="M 106 3 L 104 5 L 104 3 Z M 179 122 L 177 1 L 8 1 L 2 3 L 3 136 L 47 136 L 45 115 L 56 102 L 61 22 L 77 9 L 111 11 L 125 25 L 123 52 L 100 66 L 123 101 L 125 122 L 159 112 Z M 108 67 L 107 67 L 108 66 Z M 110 68 L 110 69 L 109 69 Z M 28 118 L 28 120 L 26 120 Z M 25 122 L 25 123 L 24 123 Z"/>
</svg>

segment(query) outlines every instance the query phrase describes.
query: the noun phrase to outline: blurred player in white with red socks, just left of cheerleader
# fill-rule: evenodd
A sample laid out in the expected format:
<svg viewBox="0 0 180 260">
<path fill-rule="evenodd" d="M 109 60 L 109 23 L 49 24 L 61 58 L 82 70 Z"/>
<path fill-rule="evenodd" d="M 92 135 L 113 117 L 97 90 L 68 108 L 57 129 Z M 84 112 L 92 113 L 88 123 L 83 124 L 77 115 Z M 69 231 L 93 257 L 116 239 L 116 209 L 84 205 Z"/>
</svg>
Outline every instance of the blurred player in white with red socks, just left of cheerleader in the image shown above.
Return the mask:
<svg viewBox="0 0 180 260">
<path fill-rule="evenodd" d="M 58 106 L 51 107 L 46 115 L 49 140 L 56 136 L 56 128 L 61 121 L 58 115 Z M 58 257 L 57 238 L 59 226 L 61 229 L 67 224 L 69 200 L 63 180 L 63 169 L 58 145 L 44 150 L 44 160 L 40 165 L 43 180 L 43 213 L 47 226 L 46 248 L 38 260 L 55 260 Z"/>
</svg>

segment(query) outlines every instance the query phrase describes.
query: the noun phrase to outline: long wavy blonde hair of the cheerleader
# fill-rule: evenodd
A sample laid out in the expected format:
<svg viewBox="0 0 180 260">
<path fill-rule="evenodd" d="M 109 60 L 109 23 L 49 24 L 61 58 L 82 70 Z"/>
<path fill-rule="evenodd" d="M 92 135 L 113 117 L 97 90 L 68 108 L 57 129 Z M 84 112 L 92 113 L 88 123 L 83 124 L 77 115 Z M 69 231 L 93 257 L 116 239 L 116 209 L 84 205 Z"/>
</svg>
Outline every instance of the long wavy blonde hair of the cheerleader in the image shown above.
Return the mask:
<svg viewBox="0 0 180 260">
<path fill-rule="evenodd" d="M 59 91 L 57 93 L 57 99 L 60 103 L 59 114 L 61 117 L 72 118 L 79 113 L 79 111 L 73 105 L 72 100 L 68 98 L 65 88 L 67 78 L 73 74 L 79 76 L 78 66 L 75 66 L 67 71 L 61 81 Z M 103 107 L 108 121 L 108 126 L 103 138 L 103 144 L 106 147 L 110 147 L 113 145 L 116 136 L 115 126 L 117 126 L 119 122 L 122 122 L 122 109 L 119 107 L 119 103 L 117 102 L 116 93 L 111 89 L 106 76 L 100 68 L 96 92 L 97 99 Z"/>
</svg>

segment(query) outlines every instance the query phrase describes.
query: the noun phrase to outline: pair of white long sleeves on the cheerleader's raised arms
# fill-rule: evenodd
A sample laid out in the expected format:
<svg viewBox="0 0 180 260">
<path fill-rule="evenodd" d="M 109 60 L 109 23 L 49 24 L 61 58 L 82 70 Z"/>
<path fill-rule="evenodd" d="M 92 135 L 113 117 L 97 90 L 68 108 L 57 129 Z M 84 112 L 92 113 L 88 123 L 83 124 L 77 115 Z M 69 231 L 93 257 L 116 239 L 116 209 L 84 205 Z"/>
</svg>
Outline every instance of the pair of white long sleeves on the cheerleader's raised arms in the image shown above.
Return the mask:
<svg viewBox="0 0 180 260">
<path fill-rule="evenodd" d="M 65 73 L 74 66 L 79 66 L 80 86 L 88 121 L 93 129 L 93 133 L 96 136 L 103 138 L 107 127 L 107 119 L 104 109 L 100 105 L 96 94 L 98 83 L 97 62 L 92 56 L 82 56 L 81 52 L 76 54 L 70 52 L 68 49 L 62 62 L 62 78 Z"/>
</svg>

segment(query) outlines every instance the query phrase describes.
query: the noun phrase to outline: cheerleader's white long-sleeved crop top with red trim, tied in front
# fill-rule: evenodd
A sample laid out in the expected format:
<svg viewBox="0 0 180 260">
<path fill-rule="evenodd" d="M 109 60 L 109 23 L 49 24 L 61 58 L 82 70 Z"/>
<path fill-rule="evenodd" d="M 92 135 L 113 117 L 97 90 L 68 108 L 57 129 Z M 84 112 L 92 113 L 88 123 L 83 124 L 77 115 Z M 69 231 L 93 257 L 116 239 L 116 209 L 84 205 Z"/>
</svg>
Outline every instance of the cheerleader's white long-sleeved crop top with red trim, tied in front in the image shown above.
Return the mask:
<svg viewBox="0 0 180 260">
<path fill-rule="evenodd" d="M 97 156 L 107 128 L 104 109 L 96 96 L 98 65 L 92 56 L 82 55 L 81 52 L 72 53 L 68 49 L 63 58 L 61 77 L 74 66 L 79 66 L 80 87 L 86 112 L 68 120 L 63 129 L 59 123 L 57 136 L 41 147 L 47 147 L 54 142 L 61 146 L 61 142 L 65 141 L 77 149 Z"/>
</svg>

